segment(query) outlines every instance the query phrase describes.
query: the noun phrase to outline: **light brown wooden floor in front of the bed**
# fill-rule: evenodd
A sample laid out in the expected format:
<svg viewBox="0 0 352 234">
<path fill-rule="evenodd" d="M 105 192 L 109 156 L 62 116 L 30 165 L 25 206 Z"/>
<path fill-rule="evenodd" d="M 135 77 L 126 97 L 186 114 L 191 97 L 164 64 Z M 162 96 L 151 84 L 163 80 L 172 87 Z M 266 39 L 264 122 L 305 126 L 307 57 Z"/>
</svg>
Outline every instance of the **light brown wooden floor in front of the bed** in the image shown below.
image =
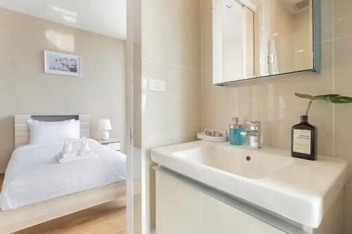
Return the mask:
<svg viewBox="0 0 352 234">
<path fill-rule="evenodd" d="M 0 174 L 0 186 L 3 175 Z M 125 234 L 126 200 L 121 198 L 56 220 L 32 226 L 16 234 Z"/>
</svg>

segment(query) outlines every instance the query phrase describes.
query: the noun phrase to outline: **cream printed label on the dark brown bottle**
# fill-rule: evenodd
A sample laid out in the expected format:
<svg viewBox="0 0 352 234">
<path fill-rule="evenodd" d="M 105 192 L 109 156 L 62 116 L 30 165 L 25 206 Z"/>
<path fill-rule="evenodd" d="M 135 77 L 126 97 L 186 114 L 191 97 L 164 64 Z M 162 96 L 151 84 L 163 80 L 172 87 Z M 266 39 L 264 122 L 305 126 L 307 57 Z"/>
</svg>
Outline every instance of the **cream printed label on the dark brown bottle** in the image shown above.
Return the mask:
<svg viewBox="0 0 352 234">
<path fill-rule="evenodd" d="M 311 154 L 311 131 L 294 129 L 293 151 L 302 154 Z"/>
</svg>

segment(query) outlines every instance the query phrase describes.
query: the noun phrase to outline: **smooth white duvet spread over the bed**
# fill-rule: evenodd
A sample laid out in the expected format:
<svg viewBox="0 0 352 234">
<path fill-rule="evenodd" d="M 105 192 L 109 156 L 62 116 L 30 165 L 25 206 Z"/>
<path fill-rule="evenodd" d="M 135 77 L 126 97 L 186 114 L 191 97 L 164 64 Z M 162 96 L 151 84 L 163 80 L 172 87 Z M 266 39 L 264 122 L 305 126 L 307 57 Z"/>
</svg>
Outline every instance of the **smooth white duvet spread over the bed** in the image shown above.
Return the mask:
<svg viewBox="0 0 352 234">
<path fill-rule="evenodd" d="M 78 150 L 80 143 L 74 143 Z M 57 163 L 63 143 L 23 145 L 12 153 L 0 194 L 3 211 L 126 180 L 126 156 L 89 139 L 97 159 Z"/>
</svg>

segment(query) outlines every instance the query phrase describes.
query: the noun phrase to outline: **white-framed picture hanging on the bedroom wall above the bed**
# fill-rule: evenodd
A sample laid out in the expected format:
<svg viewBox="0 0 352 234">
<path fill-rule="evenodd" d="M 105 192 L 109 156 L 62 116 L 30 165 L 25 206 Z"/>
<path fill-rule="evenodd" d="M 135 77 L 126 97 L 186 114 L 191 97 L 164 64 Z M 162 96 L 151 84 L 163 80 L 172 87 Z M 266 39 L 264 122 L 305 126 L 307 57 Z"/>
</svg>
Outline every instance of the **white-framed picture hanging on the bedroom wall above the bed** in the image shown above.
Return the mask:
<svg viewBox="0 0 352 234">
<path fill-rule="evenodd" d="M 44 51 L 45 73 L 82 76 L 82 58 L 72 54 Z"/>
</svg>

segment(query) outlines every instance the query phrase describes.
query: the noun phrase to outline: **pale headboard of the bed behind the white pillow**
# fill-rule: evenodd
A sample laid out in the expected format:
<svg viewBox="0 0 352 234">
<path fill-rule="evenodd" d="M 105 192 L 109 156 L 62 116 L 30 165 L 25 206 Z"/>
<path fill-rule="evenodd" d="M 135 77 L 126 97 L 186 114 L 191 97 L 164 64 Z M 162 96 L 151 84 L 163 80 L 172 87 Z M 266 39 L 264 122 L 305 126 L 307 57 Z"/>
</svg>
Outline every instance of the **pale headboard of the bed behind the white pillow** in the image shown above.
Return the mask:
<svg viewBox="0 0 352 234">
<path fill-rule="evenodd" d="M 91 131 L 90 115 L 15 115 L 14 116 L 14 148 L 28 144 L 30 132 L 28 119 L 39 121 L 64 121 L 68 119 L 80 120 L 80 137 L 89 137 Z"/>
</svg>

